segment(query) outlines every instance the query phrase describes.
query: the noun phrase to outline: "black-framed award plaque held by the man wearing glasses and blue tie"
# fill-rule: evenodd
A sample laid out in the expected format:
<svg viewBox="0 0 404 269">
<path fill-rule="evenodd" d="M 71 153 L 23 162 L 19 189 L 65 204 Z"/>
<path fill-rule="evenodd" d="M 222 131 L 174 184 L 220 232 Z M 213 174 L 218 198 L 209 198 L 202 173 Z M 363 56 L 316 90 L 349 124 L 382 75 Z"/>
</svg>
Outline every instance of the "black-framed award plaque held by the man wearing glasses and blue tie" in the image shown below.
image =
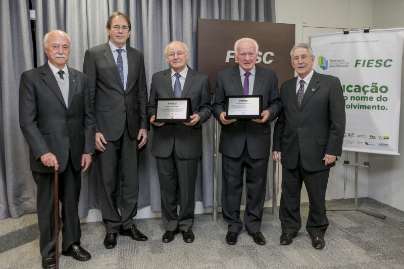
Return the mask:
<svg viewBox="0 0 404 269">
<path fill-rule="evenodd" d="M 190 98 L 156 98 L 155 122 L 190 122 Z"/>
</svg>

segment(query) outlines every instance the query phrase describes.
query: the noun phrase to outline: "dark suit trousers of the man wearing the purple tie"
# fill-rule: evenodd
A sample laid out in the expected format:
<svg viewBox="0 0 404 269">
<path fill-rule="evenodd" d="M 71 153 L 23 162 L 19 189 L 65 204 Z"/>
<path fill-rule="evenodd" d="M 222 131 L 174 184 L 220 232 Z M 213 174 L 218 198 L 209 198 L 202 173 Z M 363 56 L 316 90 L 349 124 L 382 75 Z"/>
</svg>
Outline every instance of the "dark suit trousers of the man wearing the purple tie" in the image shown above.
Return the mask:
<svg viewBox="0 0 404 269">
<path fill-rule="evenodd" d="M 222 155 L 222 213 L 229 224 L 228 231 L 239 233 L 243 228 L 240 204 L 243 190 L 243 174 L 246 169 L 246 205 L 244 226 L 247 232 L 259 232 L 267 186 L 269 157 L 252 159 L 245 142 L 241 156 L 232 158 Z"/>
</svg>

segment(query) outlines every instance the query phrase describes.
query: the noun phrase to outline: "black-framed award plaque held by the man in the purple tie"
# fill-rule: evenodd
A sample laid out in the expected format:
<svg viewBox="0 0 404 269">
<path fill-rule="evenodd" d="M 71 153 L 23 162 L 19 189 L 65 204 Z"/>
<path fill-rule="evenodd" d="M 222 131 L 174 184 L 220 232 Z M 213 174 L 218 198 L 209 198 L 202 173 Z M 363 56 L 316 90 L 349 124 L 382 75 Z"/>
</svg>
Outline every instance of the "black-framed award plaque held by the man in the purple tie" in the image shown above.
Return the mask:
<svg viewBox="0 0 404 269">
<path fill-rule="evenodd" d="M 262 119 L 262 95 L 226 96 L 225 119 Z"/>
</svg>

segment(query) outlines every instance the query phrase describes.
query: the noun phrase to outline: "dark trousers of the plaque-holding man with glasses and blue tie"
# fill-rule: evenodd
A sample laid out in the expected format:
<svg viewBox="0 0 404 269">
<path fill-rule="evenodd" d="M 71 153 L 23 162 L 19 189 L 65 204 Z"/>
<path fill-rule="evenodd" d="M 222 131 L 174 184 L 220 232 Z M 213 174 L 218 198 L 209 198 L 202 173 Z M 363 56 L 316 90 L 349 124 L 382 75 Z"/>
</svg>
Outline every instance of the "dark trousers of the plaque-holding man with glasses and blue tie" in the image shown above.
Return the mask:
<svg viewBox="0 0 404 269">
<path fill-rule="evenodd" d="M 175 147 L 170 156 L 156 157 L 161 192 L 161 214 L 167 231 L 190 230 L 194 221 L 195 182 L 198 159 L 178 157 Z M 177 190 L 180 211 L 177 214 Z"/>
</svg>

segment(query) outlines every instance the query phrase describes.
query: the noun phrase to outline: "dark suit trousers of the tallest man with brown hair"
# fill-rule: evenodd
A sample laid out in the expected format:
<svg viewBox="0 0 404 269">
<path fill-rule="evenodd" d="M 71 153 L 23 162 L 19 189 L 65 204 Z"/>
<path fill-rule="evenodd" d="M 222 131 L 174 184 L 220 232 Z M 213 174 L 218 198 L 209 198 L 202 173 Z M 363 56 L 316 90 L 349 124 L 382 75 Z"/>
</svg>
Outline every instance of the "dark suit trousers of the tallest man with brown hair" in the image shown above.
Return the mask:
<svg viewBox="0 0 404 269">
<path fill-rule="evenodd" d="M 128 123 L 117 141 L 107 141 L 105 151 L 97 150 L 100 179 L 101 206 L 107 233 L 117 233 L 119 229 L 129 229 L 132 218 L 137 213 L 139 149 L 137 139 L 131 139 Z M 118 181 L 120 169 L 120 181 Z M 121 184 L 119 214 L 117 206 L 117 183 Z"/>
</svg>

